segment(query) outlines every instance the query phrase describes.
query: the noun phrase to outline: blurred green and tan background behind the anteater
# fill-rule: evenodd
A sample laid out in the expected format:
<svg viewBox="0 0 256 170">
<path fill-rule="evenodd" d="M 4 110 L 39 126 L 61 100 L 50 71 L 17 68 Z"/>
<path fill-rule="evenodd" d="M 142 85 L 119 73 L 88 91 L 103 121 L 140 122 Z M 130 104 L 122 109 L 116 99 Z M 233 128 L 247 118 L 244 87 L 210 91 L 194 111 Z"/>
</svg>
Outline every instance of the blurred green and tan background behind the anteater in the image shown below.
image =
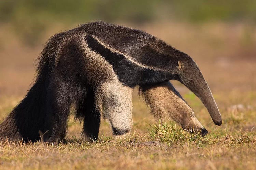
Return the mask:
<svg viewBox="0 0 256 170">
<path fill-rule="evenodd" d="M 244 113 L 255 108 L 255 0 L 1 0 L 0 120 L 31 87 L 49 37 L 97 20 L 144 30 L 193 57 L 224 121 L 234 106 Z M 199 115 L 206 112 L 194 94 L 174 84 Z M 134 93 L 135 115 L 143 111 L 137 98 Z"/>
</svg>

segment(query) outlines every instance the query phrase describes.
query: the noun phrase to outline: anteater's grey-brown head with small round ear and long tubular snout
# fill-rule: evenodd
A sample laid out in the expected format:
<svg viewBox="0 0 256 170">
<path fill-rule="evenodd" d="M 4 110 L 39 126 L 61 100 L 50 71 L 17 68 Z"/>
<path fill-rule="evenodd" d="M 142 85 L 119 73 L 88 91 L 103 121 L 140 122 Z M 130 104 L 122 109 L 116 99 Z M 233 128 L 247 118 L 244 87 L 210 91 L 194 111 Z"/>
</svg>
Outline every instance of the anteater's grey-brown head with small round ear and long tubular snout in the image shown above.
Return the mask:
<svg viewBox="0 0 256 170">
<path fill-rule="evenodd" d="M 176 66 L 178 80 L 191 90 L 203 102 L 210 113 L 213 122 L 221 125 L 222 119 L 211 90 L 203 78 L 201 71 L 191 57 L 179 60 Z"/>
</svg>

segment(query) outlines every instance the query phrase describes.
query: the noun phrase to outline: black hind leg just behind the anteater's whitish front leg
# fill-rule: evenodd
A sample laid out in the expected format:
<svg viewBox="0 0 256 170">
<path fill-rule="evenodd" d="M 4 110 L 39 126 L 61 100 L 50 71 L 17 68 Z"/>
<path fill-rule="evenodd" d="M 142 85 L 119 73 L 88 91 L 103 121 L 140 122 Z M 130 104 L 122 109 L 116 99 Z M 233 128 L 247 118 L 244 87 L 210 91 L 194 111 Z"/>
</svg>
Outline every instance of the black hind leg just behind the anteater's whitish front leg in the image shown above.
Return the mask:
<svg viewBox="0 0 256 170">
<path fill-rule="evenodd" d="M 94 92 L 88 91 L 78 106 L 76 117 L 83 119 L 83 135 L 88 141 L 97 141 L 100 127 L 100 112 L 95 106 Z"/>
</svg>

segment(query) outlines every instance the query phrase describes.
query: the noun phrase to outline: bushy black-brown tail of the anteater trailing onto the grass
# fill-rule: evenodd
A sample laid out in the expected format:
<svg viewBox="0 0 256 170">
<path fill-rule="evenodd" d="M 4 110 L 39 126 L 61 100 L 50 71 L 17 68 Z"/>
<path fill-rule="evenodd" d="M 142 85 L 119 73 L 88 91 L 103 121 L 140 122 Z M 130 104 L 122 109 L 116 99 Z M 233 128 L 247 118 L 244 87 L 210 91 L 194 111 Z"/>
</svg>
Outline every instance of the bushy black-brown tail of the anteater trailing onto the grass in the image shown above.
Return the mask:
<svg viewBox="0 0 256 170">
<path fill-rule="evenodd" d="M 25 98 L 11 111 L 0 125 L 0 137 L 25 142 L 39 139 L 39 130 L 43 131 L 44 106 L 48 76 L 38 79 Z"/>
</svg>

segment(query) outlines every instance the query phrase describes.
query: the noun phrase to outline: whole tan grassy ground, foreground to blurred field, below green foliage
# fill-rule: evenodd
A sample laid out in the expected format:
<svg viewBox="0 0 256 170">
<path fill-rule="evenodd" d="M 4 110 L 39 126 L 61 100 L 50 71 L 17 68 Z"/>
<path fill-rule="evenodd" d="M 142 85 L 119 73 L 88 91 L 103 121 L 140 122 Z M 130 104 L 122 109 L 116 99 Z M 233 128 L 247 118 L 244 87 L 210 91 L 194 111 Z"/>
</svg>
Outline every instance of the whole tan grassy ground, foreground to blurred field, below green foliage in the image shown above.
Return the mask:
<svg viewBox="0 0 256 170">
<path fill-rule="evenodd" d="M 137 28 L 194 58 L 219 106 L 222 125 L 214 125 L 201 101 L 174 81 L 207 136 L 190 135 L 171 120 L 160 125 L 134 90 L 131 138 L 115 141 L 108 122 L 102 120 L 99 141 L 86 143 L 80 139 L 80 122 L 71 116 L 67 143 L 0 142 L 0 169 L 255 168 L 256 28 L 237 23 L 154 23 Z M 1 26 L 0 122 L 31 87 L 43 42 L 62 29 L 56 26 L 37 46 L 26 47 L 8 26 Z"/>
</svg>

